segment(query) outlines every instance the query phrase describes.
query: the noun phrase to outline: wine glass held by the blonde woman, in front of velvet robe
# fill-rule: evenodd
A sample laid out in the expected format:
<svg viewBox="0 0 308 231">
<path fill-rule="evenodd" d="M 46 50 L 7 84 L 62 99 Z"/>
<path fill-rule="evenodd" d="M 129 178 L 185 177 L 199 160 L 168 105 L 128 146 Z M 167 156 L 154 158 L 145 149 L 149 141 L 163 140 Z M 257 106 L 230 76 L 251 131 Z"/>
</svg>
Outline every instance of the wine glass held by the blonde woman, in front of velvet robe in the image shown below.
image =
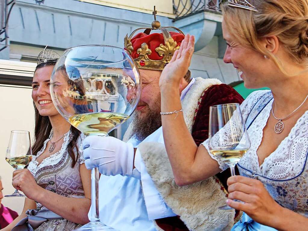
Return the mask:
<svg viewBox="0 0 308 231">
<path fill-rule="evenodd" d="M 235 165 L 250 148 L 250 140 L 238 103 L 210 107 L 209 150 L 230 167 L 235 175 Z M 238 200 L 235 200 L 238 201 Z M 229 205 L 220 209 L 233 209 Z"/>
</svg>

